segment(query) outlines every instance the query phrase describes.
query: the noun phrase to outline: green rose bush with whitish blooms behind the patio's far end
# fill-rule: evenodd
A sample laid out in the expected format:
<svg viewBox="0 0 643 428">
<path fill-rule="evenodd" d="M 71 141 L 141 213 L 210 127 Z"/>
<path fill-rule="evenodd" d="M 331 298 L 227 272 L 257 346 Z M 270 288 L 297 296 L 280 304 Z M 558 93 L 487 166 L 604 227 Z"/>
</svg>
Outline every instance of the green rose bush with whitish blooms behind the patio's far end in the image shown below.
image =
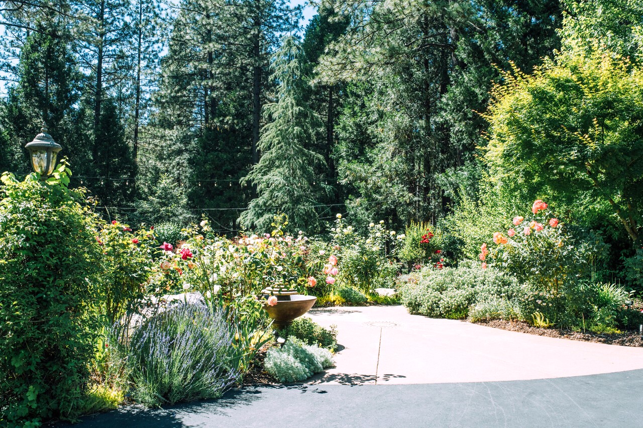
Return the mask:
<svg viewBox="0 0 643 428">
<path fill-rule="evenodd" d="M 365 293 L 378 287 L 392 287 L 399 264 L 394 262 L 395 242 L 404 239 L 389 231 L 384 221 L 368 225 L 368 236 L 359 235 L 345 226 L 338 214 L 331 229 L 331 245 L 338 257 L 338 281 Z"/>
</svg>

